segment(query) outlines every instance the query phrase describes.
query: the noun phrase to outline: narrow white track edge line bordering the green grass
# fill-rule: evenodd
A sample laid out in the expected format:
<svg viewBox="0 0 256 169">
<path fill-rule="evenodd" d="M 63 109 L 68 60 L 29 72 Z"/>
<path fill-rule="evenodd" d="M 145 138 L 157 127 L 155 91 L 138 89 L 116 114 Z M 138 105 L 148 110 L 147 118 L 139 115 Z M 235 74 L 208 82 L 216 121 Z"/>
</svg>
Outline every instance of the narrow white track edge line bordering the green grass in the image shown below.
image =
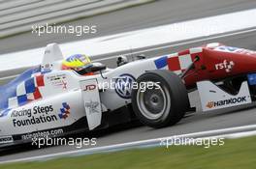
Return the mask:
<svg viewBox="0 0 256 169">
<path fill-rule="evenodd" d="M 62 157 L 62 156 L 74 156 L 74 155 L 91 155 L 95 153 L 104 153 L 112 151 L 126 150 L 130 148 L 140 148 L 144 146 L 160 146 L 161 140 L 172 139 L 174 136 L 176 138 L 240 138 L 245 136 L 256 135 L 256 125 L 242 126 L 242 127 L 228 127 L 222 129 L 214 129 L 208 131 L 194 132 L 182 135 L 173 135 L 162 138 L 148 139 L 143 141 L 135 141 L 129 143 L 115 144 L 104 147 L 82 149 L 77 151 L 69 151 L 63 153 L 57 153 L 52 155 L 39 155 L 32 157 L 19 158 L 14 160 L 0 161 L 0 164 L 13 163 L 13 162 L 26 162 L 35 160 L 48 160 L 52 158 Z"/>
</svg>

